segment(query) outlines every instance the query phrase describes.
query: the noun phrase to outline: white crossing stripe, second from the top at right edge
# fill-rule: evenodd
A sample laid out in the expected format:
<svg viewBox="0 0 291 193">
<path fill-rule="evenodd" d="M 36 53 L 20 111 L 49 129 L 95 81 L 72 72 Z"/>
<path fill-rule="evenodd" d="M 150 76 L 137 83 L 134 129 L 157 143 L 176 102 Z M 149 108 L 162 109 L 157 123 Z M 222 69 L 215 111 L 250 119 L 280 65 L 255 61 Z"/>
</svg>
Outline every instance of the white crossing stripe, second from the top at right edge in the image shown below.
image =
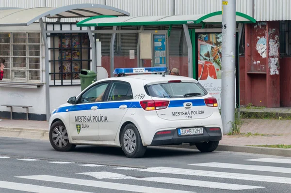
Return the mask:
<svg viewBox="0 0 291 193">
<path fill-rule="evenodd" d="M 263 171 L 263 172 L 279 172 L 291 174 L 291 168 L 286 167 L 273 167 L 264 165 L 243 165 L 234 163 L 193 163 L 189 165 L 216 167 L 216 168 L 228 168 L 228 169 L 240 169 L 240 170 L 252 170 L 252 171 Z"/>
</svg>

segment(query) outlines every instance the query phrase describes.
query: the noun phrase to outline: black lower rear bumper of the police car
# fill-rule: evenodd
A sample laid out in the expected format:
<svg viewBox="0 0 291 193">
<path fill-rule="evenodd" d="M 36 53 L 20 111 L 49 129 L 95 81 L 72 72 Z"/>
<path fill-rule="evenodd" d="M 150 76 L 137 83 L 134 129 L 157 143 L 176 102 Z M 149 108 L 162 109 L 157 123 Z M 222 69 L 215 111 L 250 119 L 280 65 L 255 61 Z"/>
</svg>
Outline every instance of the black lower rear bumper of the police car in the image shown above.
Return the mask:
<svg viewBox="0 0 291 193">
<path fill-rule="evenodd" d="M 188 136 L 178 136 L 178 128 L 171 130 L 170 134 L 157 133 L 154 135 L 154 138 L 150 144 L 151 146 L 173 145 L 180 143 L 198 143 L 204 141 L 220 141 L 222 139 L 221 130 L 210 131 L 210 127 L 203 127 L 203 134 Z"/>
</svg>

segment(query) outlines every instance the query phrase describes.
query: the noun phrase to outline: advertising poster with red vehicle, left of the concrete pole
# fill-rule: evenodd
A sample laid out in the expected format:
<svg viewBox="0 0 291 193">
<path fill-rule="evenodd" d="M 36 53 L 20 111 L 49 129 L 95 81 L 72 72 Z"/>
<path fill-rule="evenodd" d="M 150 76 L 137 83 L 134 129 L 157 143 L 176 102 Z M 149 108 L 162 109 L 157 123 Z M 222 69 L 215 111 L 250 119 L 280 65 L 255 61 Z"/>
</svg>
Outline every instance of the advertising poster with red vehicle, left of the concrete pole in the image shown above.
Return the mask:
<svg viewBox="0 0 291 193">
<path fill-rule="evenodd" d="M 222 33 L 198 33 L 197 42 L 198 81 L 221 108 Z"/>
</svg>

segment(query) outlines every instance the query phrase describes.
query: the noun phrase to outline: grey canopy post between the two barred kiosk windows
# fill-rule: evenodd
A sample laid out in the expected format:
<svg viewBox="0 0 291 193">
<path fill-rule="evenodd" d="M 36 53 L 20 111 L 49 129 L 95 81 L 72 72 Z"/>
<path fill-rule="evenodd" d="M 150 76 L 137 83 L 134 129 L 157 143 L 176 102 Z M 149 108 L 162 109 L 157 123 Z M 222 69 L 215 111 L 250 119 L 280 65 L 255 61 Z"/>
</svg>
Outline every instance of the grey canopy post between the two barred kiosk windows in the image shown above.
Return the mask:
<svg viewBox="0 0 291 193">
<path fill-rule="evenodd" d="M 43 37 L 44 45 L 45 45 L 45 80 L 46 80 L 46 115 L 47 115 L 47 121 L 49 121 L 50 118 L 50 105 L 49 105 L 49 45 L 48 45 L 48 39 L 47 39 L 47 31 L 45 30 L 43 19 L 39 19 L 41 34 Z"/>
</svg>

